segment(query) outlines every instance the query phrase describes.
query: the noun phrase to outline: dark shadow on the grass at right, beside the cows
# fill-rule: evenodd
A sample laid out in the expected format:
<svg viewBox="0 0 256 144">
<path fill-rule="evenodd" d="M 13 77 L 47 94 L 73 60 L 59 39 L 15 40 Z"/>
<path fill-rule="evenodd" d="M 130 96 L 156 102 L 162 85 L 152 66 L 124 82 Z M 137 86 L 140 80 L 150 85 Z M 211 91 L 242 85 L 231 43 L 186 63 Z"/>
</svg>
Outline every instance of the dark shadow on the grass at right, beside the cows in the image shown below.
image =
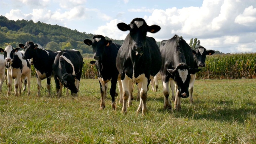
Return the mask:
<svg viewBox="0 0 256 144">
<path fill-rule="evenodd" d="M 175 118 L 188 118 L 188 119 L 207 119 L 218 120 L 226 122 L 240 122 L 244 123 L 248 117 L 256 114 L 256 104 L 254 102 L 246 102 L 240 106 L 234 107 L 232 100 L 213 100 L 210 103 L 204 103 L 197 101 L 194 104 L 190 104 L 188 101 L 182 102 L 182 109 L 176 111 L 174 109 L 174 102 L 172 102 L 172 110 L 164 110 L 159 108 L 159 113 L 170 113 Z M 173 112 L 172 112 L 173 111 Z"/>
</svg>

